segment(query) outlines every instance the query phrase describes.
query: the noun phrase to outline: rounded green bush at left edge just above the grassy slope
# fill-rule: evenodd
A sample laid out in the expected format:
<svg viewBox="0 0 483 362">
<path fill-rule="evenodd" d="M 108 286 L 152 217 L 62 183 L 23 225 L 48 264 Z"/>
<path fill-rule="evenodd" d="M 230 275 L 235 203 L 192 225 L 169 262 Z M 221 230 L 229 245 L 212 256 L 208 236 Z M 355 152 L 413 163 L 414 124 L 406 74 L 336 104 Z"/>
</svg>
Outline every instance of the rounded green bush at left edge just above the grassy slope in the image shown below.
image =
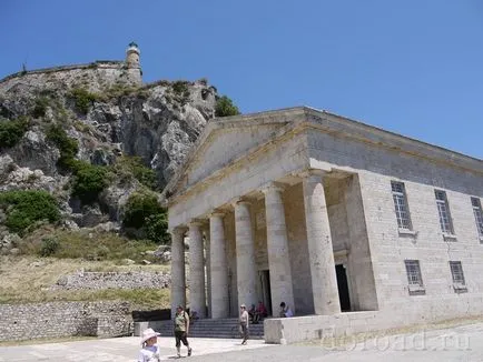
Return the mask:
<svg viewBox="0 0 483 362">
<path fill-rule="evenodd" d="M 20 234 L 38 221 L 56 222 L 60 219 L 56 199 L 43 190 L 2 192 L 0 207 L 7 209 L 7 228 Z"/>
</svg>

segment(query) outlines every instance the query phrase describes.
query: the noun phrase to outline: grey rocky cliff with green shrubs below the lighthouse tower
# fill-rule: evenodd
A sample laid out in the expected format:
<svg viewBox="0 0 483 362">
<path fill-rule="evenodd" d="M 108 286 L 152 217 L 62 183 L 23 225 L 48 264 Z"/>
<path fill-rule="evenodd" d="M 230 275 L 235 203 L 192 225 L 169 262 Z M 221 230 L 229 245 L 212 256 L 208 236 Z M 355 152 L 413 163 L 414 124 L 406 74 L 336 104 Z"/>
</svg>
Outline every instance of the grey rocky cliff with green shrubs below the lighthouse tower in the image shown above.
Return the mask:
<svg viewBox="0 0 483 362">
<path fill-rule="evenodd" d="M 122 204 L 145 183 L 122 169 L 129 164 L 136 173 L 138 160 L 129 157 L 140 158 L 135 167 L 156 172 L 149 187 L 161 191 L 215 117 L 218 95 L 206 80 L 139 84 L 136 77 L 105 62 L 1 80 L 0 191 L 46 190 L 67 228 L 118 225 Z M 109 174 L 89 199 L 79 197 L 86 190 L 73 182 L 86 168 Z M 4 225 L 9 208 L 0 200 L 0 241 L 11 239 Z"/>
</svg>

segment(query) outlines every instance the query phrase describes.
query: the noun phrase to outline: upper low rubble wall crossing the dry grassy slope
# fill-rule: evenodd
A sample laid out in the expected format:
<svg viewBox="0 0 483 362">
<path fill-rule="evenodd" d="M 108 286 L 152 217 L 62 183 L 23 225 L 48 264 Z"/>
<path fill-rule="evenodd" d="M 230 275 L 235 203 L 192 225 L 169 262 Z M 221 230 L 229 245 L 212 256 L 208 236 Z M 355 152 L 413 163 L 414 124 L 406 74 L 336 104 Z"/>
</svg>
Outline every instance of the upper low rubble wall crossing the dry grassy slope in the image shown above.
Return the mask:
<svg viewBox="0 0 483 362">
<path fill-rule="evenodd" d="M 83 272 L 61 276 L 52 290 L 81 289 L 164 289 L 171 284 L 171 276 L 162 272 Z"/>
</svg>

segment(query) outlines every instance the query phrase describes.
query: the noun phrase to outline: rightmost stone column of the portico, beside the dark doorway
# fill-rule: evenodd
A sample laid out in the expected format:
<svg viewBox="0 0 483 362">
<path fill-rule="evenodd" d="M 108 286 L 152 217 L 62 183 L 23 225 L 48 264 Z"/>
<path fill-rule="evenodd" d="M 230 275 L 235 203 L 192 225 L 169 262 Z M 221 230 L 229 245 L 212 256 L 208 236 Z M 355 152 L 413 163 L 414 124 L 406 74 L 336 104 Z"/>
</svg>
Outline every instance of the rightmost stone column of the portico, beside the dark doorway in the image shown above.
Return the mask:
<svg viewBox="0 0 483 362">
<path fill-rule="evenodd" d="M 303 172 L 305 223 L 315 314 L 341 313 L 331 224 L 323 183 L 324 171 Z"/>
</svg>

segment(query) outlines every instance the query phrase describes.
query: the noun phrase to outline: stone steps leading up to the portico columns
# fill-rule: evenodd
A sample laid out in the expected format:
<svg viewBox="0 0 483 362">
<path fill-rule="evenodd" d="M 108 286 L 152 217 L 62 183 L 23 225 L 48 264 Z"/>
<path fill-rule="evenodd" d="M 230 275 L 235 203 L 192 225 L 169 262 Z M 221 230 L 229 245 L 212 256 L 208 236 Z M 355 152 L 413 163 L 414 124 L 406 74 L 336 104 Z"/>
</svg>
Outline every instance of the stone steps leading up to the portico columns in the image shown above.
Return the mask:
<svg viewBox="0 0 483 362">
<path fill-rule="evenodd" d="M 189 336 L 201 338 L 223 338 L 223 339 L 240 339 L 238 330 L 238 319 L 199 319 L 191 321 L 189 324 Z M 172 336 L 172 321 L 159 321 L 152 325 L 156 332 L 161 333 L 161 336 Z M 264 339 L 264 323 L 249 325 L 249 338 L 253 340 Z"/>
</svg>

